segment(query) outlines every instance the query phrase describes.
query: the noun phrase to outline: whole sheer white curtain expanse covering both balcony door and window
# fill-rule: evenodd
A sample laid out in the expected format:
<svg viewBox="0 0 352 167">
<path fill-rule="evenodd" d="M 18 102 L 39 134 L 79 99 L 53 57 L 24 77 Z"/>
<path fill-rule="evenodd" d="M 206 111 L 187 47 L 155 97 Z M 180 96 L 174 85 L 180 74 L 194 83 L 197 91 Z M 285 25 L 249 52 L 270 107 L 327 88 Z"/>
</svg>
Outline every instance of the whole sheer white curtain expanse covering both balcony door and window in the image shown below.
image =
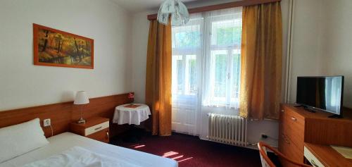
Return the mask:
<svg viewBox="0 0 352 167">
<path fill-rule="evenodd" d="M 172 27 L 172 130 L 201 132 L 201 106 L 239 106 L 241 8 L 192 14 Z"/>
</svg>

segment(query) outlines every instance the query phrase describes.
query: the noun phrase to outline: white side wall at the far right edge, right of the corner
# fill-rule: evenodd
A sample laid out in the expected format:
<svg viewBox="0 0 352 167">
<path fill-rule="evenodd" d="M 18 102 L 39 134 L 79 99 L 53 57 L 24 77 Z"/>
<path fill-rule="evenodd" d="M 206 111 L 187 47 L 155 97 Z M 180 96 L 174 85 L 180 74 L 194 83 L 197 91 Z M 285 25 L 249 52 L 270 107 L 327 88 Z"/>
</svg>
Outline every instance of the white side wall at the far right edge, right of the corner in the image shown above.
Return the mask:
<svg viewBox="0 0 352 167">
<path fill-rule="evenodd" d="M 352 1 L 324 1 L 322 13 L 322 71 L 326 75 L 344 75 L 344 106 L 352 108 Z"/>
</svg>

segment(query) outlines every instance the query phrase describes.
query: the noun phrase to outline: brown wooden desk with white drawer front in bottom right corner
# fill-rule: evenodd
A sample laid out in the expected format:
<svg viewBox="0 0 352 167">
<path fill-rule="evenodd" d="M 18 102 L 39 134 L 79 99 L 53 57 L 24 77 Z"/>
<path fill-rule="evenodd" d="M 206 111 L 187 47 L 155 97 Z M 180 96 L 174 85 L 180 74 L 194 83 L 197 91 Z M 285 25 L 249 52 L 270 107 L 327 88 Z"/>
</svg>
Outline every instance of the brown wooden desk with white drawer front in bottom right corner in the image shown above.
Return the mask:
<svg viewBox="0 0 352 167">
<path fill-rule="evenodd" d="M 352 166 L 352 159 L 346 159 L 328 145 L 304 143 L 304 157 L 315 167 Z"/>
</svg>

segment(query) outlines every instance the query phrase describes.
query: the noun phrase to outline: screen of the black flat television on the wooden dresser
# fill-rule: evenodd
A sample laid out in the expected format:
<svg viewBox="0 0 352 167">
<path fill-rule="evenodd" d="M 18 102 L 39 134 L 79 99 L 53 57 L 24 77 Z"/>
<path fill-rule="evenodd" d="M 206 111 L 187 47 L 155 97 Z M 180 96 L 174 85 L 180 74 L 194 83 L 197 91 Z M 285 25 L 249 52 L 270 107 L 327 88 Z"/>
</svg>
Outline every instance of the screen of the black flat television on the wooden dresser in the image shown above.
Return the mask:
<svg viewBox="0 0 352 167">
<path fill-rule="evenodd" d="M 340 115 L 344 76 L 298 77 L 296 103 Z"/>
</svg>

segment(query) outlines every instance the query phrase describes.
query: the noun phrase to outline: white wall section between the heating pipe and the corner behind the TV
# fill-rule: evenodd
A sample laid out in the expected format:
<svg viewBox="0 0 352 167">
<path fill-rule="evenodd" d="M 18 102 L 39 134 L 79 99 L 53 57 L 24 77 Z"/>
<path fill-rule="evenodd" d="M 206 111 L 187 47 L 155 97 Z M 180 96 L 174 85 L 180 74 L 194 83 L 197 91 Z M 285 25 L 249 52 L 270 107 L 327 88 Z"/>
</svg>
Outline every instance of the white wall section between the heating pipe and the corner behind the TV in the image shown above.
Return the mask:
<svg viewBox="0 0 352 167">
<path fill-rule="evenodd" d="M 297 76 L 322 75 L 320 36 L 322 32 L 321 0 L 294 0 L 291 44 L 290 103 L 296 102 Z"/>
</svg>

